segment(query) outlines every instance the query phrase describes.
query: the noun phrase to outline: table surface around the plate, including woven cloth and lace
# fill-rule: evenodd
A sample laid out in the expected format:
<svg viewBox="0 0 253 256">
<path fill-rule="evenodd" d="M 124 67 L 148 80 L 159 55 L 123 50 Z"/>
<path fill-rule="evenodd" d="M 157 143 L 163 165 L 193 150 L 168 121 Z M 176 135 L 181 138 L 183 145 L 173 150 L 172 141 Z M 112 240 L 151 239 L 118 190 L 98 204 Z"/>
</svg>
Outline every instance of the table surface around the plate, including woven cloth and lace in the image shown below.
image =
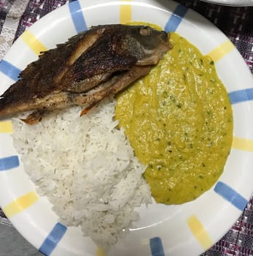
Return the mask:
<svg viewBox="0 0 253 256">
<path fill-rule="evenodd" d="M 253 7 L 177 0 L 211 20 L 236 45 L 253 74 Z M 0 60 L 12 42 L 65 0 L 0 0 Z M 20 236 L 0 208 L 0 256 L 42 255 Z M 253 256 L 253 197 L 233 227 L 202 256 Z"/>
</svg>

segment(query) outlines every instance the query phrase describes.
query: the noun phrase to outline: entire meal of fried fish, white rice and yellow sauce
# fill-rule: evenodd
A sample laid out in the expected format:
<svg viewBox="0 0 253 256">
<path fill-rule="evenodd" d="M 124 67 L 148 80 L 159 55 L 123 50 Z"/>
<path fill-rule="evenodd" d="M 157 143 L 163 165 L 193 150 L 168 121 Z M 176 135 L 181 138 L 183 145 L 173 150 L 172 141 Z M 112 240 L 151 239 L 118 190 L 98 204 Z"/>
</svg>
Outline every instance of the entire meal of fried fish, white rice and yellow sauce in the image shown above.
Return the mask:
<svg viewBox="0 0 253 256">
<path fill-rule="evenodd" d="M 105 250 L 152 197 L 179 204 L 209 189 L 232 143 L 232 109 L 214 61 L 146 25 L 72 37 L 29 64 L 0 99 L 1 116 L 18 113 L 14 145 L 39 195 Z M 23 117 L 25 110 L 34 112 Z"/>
</svg>

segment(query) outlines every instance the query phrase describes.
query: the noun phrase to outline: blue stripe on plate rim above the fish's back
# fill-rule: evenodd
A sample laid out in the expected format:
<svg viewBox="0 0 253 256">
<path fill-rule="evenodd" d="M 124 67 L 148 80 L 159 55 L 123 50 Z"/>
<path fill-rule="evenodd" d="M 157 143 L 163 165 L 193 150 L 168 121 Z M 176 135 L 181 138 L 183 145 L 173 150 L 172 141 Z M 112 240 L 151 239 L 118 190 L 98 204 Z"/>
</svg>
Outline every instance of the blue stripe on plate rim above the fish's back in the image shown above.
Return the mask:
<svg viewBox="0 0 253 256">
<path fill-rule="evenodd" d="M 69 3 L 69 11 L 77 33 L 87 30 L 85 17 L 82 15 L 82 9 L 79 1 L 72 1 Z"/>
</svg>

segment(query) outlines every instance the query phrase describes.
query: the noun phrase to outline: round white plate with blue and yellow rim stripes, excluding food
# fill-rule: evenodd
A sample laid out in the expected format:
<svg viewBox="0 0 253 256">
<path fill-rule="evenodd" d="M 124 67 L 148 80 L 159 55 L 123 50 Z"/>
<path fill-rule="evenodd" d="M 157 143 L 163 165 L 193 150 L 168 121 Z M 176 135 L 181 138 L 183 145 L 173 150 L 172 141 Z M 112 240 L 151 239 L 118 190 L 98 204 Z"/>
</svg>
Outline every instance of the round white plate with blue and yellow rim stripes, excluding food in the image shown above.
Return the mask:
<svg viewBox="0 0 253 256">
<path fill-rule="evenodd" d="M 229 230 L 253 188 L 252 75 L 234 45 L 208 20 L 174 1 L 73 1 L 44 16 L 24 32 L 1 61 L 1 93 L 20 70 L 93 25 L 142 20 L 176 31 L 215 61 L 230 95 L 234 115 L 233 148 L 214 187 L 190 203 L 139 208 L 136 228 L 109 252 L 127 255 L 200 255 Z M 58 222 L 50 203 L 35 192 L 12 146 L 12 123 L 0 123 L 0 206 L 17 230 L 44 255 L 103 255 L 77 227 Z"/>
</svg>

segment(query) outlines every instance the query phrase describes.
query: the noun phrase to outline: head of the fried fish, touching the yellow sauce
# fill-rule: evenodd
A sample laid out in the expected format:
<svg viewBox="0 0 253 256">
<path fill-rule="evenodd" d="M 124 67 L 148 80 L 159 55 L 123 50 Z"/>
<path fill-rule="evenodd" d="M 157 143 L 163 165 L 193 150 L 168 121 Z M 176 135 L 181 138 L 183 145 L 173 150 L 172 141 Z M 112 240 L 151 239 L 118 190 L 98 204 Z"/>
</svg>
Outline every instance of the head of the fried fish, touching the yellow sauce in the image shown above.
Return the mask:
<svg viewBox="0 0 253 256">
<path fill-rule="evenodd" d="M 155 65 L 170 49 L 168 37 L 166 31 L 158 31 L 150 26 L 130 26 L 121 49 L 128 50 L 129 55 L 136 57 L 136 65 Z"/>
</svg>

